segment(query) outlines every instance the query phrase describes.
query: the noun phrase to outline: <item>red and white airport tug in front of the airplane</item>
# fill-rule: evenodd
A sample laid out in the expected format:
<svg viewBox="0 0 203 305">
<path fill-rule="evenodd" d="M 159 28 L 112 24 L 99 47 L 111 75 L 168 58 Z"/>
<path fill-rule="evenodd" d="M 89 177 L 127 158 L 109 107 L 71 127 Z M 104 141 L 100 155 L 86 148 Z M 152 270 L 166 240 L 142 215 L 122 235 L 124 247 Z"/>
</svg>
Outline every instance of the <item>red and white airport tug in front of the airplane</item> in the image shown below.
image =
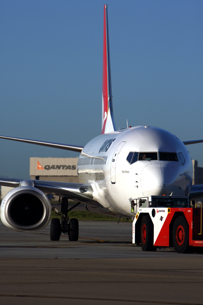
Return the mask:
<svg viewBox="0 0 203 305">
<path fill-rule="evenodd" d="M 203 247 L 202 204 L 189 206 L 188 197 L 150 196 L 131 201 L 135 214 L 132 243 L 143 251 L 174 247 L 178 253 L 192 253 Z"/>
</svg>

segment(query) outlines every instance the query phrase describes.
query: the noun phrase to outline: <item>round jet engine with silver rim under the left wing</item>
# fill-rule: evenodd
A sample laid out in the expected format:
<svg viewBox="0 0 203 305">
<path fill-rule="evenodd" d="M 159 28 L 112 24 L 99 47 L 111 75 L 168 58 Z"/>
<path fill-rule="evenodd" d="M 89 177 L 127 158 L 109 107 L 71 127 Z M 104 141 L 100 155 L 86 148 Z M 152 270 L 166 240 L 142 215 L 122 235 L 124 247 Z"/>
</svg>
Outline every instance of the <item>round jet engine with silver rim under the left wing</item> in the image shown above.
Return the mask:
<svg viewBox="0 0 203 305">
<path fill-rule="evenodd" d="M 9 228 L 39 230 L 45 228 L 51 216 L 47 196 L 34 187 L 18 187 L 2 200 L 1 221 Z"/>
</svg>

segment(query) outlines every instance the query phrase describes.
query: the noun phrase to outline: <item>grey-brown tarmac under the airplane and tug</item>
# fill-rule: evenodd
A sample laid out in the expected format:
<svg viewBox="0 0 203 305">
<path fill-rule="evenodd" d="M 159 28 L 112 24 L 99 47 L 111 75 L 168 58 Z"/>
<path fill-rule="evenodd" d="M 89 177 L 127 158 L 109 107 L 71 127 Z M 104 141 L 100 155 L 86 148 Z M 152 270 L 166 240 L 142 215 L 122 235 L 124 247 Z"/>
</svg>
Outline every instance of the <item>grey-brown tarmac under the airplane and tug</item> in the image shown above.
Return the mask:
<svg viewBox="0 0 203 305">
<path fill-rule="evenodd" d="M 143 252 L 130 222 L 80 221 L 79 240 L 51 241 L 50 225 L 0 222 L 0 304 L 203 304 L 203 254 Z"/>
</svg>

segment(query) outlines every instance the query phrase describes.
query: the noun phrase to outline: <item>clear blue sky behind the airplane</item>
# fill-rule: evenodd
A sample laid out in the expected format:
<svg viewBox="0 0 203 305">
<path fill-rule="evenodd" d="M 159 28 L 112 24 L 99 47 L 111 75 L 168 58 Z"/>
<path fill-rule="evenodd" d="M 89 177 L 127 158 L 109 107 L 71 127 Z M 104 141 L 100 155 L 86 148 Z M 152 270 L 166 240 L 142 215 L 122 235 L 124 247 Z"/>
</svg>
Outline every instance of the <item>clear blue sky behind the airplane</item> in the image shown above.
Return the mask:
<svg viewBox="0 0 203 305">
<path fill-rule="evenodd" d="M 85 145 L 100 134 L 105 4 L 116 127 L 203 139 L 203 2 L 187 0 L 1 0 L 1 135 Z M 30 157 L 78 157 L 0 143 L 2 176 L 29 178 Z M 203 166 L 203 144 L 187 148 Z"/>
</svg>

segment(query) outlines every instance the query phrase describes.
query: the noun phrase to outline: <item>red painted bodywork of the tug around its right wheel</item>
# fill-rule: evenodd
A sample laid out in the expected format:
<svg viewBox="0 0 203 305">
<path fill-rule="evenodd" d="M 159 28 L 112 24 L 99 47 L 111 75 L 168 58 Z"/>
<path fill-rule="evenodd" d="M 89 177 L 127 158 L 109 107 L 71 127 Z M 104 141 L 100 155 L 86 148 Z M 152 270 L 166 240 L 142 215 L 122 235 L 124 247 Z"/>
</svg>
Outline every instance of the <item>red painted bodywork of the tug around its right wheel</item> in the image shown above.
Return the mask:
<svg viewBox="0 0 203 305">
<path fill-rule="evenodd" d="M 192 239 L 192 208 L 171 208 L 171 212 L 167 214 L 165 222 L 161 227 L 161 230 L 158 234 L 154 242 L 154 246 L 168 247 L 169 246 L 169 235 L 170 235 L 170 224 L 174 217 L 175 212 L 183 212 L 188 224 L 189 224 L 189 246 L 193 246 Z M 179 232 L 178 232 L 179 233 Z M 180 238 L 181 238 L 181 230 L 180 230 Z M 181 242 L 181 239 L 180 239 Z"/>
</svg>

